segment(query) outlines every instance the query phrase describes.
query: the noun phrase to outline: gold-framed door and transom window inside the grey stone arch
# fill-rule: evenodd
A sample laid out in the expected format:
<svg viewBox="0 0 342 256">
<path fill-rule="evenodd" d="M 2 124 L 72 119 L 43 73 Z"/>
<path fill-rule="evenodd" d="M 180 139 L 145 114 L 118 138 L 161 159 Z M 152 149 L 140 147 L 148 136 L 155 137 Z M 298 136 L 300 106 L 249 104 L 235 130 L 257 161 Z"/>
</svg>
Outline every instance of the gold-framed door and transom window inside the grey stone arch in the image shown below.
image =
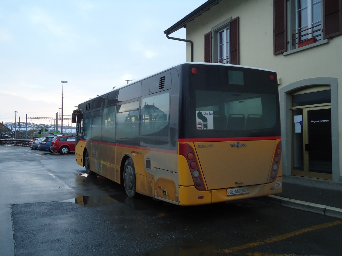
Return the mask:
<svg viewBox="0 0 342 256">
<path fill-rule="evenodd" d="M 291 95 L 291 174 L 332 180 L 330 86 Z"/>
</svg>

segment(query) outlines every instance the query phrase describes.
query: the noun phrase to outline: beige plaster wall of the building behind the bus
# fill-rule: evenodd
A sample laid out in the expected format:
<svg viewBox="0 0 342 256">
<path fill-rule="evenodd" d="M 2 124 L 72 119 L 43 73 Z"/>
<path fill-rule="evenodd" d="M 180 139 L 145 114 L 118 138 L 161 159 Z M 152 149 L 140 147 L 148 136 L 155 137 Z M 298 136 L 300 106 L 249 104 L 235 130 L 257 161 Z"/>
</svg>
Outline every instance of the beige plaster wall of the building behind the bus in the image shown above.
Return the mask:
<svg viewBox="0 0 342 256">
<path fill-rule="evenodd" d="M 286 91 L 287 85 L 301 86 L 300 81 L 325 81 L 324 79 L 313 78 L 333 78 L 337 84 L 342 81 L 342 36 L 334 37 L 333 40 L 321 40 L 322 44 L 315 47 L 302 47 L 301 51 L 289 52 L 284 55 L 273 55 L 273 1 L 272 0 L 223 0 L 219 4 L 210 8 L 209 11 L 187 23 L 186 39 L 194 43 L 194 62 L 203 62 L 204 59 L 204 34 L 208 33 L 212 27 L 229 19 L 239 17 L 239 56 L 240 65 L 251 66 L 264 69 L 271 69 L 277 72 L 281 78 L 279 89 Z M 305 49 L 306 48 L 306 49 Z M 190 61 L 190 45 L 187 43 L 187 61 Z M 311 79 L 311 80 L 306 80 Z M 330 81 L 330 80 L 329 80 Z M 325 83 L 325 82 L 324 82 Z M 333 116 L 342 113 L 342 90 L 338 90 L 335 85 L 337 102 L 332 106 Z M 284 89 L 284 88 L 285 89 Z M 289 86 L 291 87 L 291 86 Z M 283 90 L 281 90 L 283 88 Z M 292 88 L 292 87 L 291 87 Z M 280 95 L 280 98 L 282 96 Z M 285 102 L 283 102 L 285 104 Z M 289 105 L 282 106 L 282 118 L 289 118 Z M 285 111 L 285 113 L 284 113 Z M 284 119 L 282 122 L 285 123 Z M 337 119 L 337 118 L 335 118 Z M 332 122 L 334 119 L 332 120 Z M 287 120 L 287 127 L 282 125 L 283 140 L 290 140 L 290 122 Z M 342 152 L 342 118 L 333 124 L 333 150 Z M 286 136 L 287 134 L 287 136 Z M 287 145 L 289 145 L 287 143 Z M 334 148 L 335 147 L 335 148 Z M 336 148 L 337 147 L 337 148 Z M 284 151 L 284 148 L 283 148 Z M 286 148 L 285 173 L 290 175 L 290 153 Z M 286 160 L 286 157 L 288 158 Z M 286 163 L 287 162 L 287 163 Z M 333 157 L 333 168 L 342 166 L 342 157 Z M 335 173 L 335 174 L 334 174 Z M 336 173 L 339 173 L 336 174 Z M 342 171 L 333 170 L 333 181 L 342 182 Z"/>
</svg>

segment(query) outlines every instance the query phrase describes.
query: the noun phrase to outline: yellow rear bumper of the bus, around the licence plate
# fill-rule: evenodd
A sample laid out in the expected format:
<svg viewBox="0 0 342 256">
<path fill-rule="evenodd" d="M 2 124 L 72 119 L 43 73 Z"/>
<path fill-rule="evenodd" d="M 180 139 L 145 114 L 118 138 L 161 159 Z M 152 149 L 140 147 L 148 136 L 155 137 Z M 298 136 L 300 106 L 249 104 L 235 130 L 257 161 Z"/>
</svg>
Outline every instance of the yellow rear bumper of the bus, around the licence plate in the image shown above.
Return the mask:
<svg viewBox="0 0 342 256">
<path fill-rule="evenodd" d="M 249 188 L 248 194 L 227 196 L 227 189 L 197 190 L 194 186 L 179 186 L 179 205 L 200 205 L 209 203 L 219 203 L 232 200 L 262 197 L 279 194 L 282 191 L 282 177 L 269 184 L 246 186 Z"/>
</svg>

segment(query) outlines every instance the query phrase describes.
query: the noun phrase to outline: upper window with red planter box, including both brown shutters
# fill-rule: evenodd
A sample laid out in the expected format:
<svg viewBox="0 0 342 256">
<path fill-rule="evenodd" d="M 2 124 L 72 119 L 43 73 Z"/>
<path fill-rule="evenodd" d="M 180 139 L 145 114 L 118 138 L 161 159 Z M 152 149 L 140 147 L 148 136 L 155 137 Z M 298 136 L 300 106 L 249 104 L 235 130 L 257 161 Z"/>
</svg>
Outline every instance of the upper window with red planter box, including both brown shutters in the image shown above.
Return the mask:
<svg viewBox="0 0 342 256">
<path fill-rule="evenodd" d="M 273 0 L 274 55 L 342 34 L 341 17 L 342 0 Z"/>
</svg>

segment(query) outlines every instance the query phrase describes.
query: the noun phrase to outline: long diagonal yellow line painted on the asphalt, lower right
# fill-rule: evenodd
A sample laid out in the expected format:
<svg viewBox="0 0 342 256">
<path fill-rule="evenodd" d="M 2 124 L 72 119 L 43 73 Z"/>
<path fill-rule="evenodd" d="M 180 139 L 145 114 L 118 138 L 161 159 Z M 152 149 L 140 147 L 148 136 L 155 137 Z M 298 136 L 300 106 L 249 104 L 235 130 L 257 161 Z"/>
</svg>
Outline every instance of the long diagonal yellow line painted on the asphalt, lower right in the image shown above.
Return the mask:
<svg viewBox="0 0 342 256">
<path fill-rule="evenodd" d="M 251 243 L 247 243 L 247 244 L 238 245 L 238 246 L 235 246 L 235 247 L 232 247 L 229 249 L 218 250 L 218 252 L 220 252 L 220 253 L 232 253 L 232 252 L 244 250 L 247 248 L 263 245 L 266 243 L 273 243 L 273 242 L 281 241 L 281 240 L 284 240 L 284 239 L 287 239 L 287 238 L 290 238 L 293 236 L 297 236 L 299 234 L 303 234 L 303 233 L 308 232 L 308 231 L 318 230 L 318 229 L 322 229 L 322 228 L 328 228 L 328 227 L 332 227 L 332 226 L 336 226 L 336 225 L 340 225 L 340 224 L 342 224 L 341 221 L 333 221 L 333 222 L 329 222 L 329 223 L 324 223 L 324 224 L 320 224 L 320 225 L 316 225 L 316 226 L 312 226 L 312 227 L 308 227 L 308 228 L 303 228 L 303 229 L 293 231 L 293 232 L 290 232 L 287 234 L 282 234 L 282 235 L 277 236 L 277 237 L 267 238 L 267 239 L 264 239 L 263 241 L 251 242 Z"/>
</svg>

